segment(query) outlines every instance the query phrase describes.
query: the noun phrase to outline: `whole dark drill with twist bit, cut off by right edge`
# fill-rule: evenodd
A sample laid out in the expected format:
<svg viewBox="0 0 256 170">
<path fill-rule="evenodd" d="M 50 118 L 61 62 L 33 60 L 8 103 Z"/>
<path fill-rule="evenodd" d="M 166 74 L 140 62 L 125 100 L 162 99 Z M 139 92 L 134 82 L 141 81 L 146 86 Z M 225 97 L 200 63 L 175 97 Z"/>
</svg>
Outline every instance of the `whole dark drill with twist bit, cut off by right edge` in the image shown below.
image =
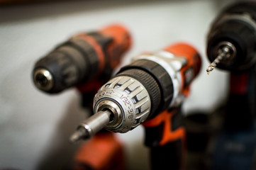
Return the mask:
<svg viewBox="0 0 256 170">
<path fill-rule="evenodd" d="M 208 33 L 207 55 L 212 62 L 208 73 L 214 67 L 230 71 L 230 93 L 213 169 L 255 169 L 255 1 L 233 4 L 220 13 Z"/>
</svg>

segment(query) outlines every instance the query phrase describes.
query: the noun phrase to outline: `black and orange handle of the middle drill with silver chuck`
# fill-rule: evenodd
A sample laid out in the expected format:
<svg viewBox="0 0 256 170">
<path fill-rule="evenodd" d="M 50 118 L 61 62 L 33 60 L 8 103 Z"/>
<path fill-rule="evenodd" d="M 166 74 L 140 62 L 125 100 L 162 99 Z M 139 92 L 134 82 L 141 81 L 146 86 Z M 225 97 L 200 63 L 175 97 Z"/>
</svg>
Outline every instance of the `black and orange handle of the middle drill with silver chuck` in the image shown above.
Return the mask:
<svg viewBox="0 0 256 170">
<path fill-rule="evenodd" d="M 152 169 L 184 169 L 185 129 L 181 108 L 163 111 L 145 126 L 145 145 L 150 147 Z"/>
</svg>

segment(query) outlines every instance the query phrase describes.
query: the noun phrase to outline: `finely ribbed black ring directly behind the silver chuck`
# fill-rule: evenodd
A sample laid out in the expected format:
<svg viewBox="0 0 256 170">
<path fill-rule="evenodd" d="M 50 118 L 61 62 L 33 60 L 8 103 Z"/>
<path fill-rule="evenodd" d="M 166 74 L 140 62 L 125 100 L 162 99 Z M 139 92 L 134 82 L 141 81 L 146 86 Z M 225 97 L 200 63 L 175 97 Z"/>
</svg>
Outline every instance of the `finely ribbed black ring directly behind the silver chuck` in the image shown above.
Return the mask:
<svg viewBox="0 0 256 170">
<path fill-rule="evenodd" d="M 150 95 L 151 113 L 155 113 L 155 111 L 157 111 L 161 98 L 160 87 L 158 86 L 155 79 L 150 74 L 148 74 L 148 72 L 145 72 L 141 69 L 127 69 L 123 72 L 120 72 L 116 76 L 132 77 L 133 79 L 140 81 L 140 83 L 145 86 L 145 89 Z"/>
</svg>

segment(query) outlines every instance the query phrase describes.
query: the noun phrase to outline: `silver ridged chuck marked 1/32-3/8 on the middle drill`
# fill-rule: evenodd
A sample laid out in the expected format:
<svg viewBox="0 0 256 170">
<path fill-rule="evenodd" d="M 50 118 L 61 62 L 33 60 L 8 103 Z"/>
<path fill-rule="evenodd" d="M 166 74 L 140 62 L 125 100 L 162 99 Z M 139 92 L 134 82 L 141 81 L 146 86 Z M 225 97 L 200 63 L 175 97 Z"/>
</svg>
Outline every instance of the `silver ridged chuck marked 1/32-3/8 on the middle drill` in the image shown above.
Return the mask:
<svg viewBox="0 0 256 170">
<path fill-rule="evenodd" d="M 113 120 L 105 127 L 113 132 L 128 132 L 143 123 L 150 114 L 150 106 L 145 86 L 126 76 L 111 79 L 94 97 L 94 113 L 106 109 L 113 113 Z"/>
</svg>

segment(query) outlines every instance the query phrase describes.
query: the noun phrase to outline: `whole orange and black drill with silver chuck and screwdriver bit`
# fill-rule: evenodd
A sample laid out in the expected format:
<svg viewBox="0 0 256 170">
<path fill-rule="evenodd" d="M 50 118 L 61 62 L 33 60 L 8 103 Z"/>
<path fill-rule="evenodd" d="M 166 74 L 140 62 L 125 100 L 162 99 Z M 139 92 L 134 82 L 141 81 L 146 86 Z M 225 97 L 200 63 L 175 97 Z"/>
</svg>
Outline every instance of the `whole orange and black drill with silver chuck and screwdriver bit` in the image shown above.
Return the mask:
<svg viewBox="0 0 256 170">
<path fill-rule="evenodd" d="M 102 128 L 128 132 L 143 123 L 145 145 L 151 148 L 152 158 L 159 152 L 165 157 L 153 160 L 152 168 L 166 167 L 166 160 L 180 167 L 179 160 L 172 159 L 174 149 L 170 150 L 173 146 L 169 143 L 180 140 L 181 154 L 185 132 L 179 123 L 180 105 L 189 95 L 189 85 L 200 67 L 199 53 L 184 43 L 134 57 L 99 89 L 94 97 L 94 115 L 78 126 L 70 140 L 88 139 Z"/>
</svg>

